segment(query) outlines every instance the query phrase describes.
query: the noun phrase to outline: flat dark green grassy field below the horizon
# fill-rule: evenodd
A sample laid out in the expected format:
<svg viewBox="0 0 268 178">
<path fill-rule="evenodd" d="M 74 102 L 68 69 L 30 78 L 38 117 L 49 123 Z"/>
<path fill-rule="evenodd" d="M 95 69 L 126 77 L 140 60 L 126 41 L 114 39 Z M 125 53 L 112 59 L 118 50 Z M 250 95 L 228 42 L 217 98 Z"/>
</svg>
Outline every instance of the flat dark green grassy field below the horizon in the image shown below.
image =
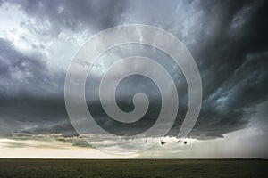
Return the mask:
<svg viewBox="0 0 268 178">
<path fill-rule="evenodd" d="M 0 177 L 268 177 L 261 159 L 0 159 Z"/>
</svg>

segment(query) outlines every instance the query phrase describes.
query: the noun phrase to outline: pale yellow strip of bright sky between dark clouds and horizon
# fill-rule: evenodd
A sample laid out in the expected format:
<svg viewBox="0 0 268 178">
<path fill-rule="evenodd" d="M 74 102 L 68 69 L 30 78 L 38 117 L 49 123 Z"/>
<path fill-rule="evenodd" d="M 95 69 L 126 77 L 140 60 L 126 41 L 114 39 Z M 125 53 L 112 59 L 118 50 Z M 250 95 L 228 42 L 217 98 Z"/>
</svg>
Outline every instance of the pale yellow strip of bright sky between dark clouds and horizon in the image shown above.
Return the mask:
<svg viewBox="0 0 268 178">
<path fill-rule="evenodd" d="M 265 134 L 257 128 L 246 128 L 214 140 L 188 139 L 187 145 L 166 137 L 164 145 L 156 144 L 135 155 L 121 156 L 56 140 L 0 139 L 0 158 L 260 158 L 267 148 L 260 150 L 255 145 L 265 145 L 265 140 Z"/>
</svg>

